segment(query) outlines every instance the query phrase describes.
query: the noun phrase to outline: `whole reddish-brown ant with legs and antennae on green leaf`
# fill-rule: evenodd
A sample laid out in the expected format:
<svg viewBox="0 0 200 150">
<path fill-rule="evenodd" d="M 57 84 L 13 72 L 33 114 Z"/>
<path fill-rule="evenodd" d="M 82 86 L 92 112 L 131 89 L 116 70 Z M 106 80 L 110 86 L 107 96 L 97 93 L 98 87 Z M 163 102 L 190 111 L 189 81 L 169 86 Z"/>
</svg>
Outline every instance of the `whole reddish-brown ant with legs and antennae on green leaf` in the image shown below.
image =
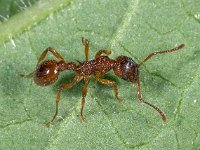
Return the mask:
<svg viewBox="0 0 200 150">
<path fill-rule="evenodd" d="M 61 71 L 73 70 L 76 72 L 76 75 L 72 82 L 63 83 L 59 86 L 56 94 L 56 111 L 53 118 L 49 122 L 47 122 L 46 124 L 47 127 L 54 121 L 54 119 L 58 114 L 58 104 L 60 101 L 61 92 L 63 90 L 73 87 L 82 79 L 84 80 L 84 85 L 82 87 L 80 119 L 81 121 L 85 120 L 83 115 L 83 109 L 85 106 L 85 97 L 87 95 L 87 87 L 91 75 L 94 75 L 95 79 L 100 83 L 113 87 L 115 97 L 118 100 L 121 100 L 121 98 L 118 96 L 117 83 L 115 81 L 101 78 L 102 75 L 106 74 L 112 69 L 115 75 L 117 75 L 119 78 L 127 82 L 137 83 L 137 97 L 139 101 L 155 109 L 162 117 L 163 123 L 166 123 L 165 114 L 158 107 L 149 103 L 142 97 L 140 89 L 141 86 L 139 79 L 139 67 L 153 56 L 156 56 L 158 54 L 171 53 L 182 49 L 184 47 L 184 44 L 181 44 L 170 50 L 153 52 L 149 54 L 139 64 L 137 64 L 133 59 L 127 56 L 118 56 L 116 59 L 111 59 L 108 57 L 111 54 L 111 51 L 106 49 L 98 51 L 95 55 L 95 59 L 88 60 L 89 41 L 82 37 L 82 44 L 85 49 L 85 61 L 79 62 L 78 65 L 74 62 L 66 62 L 64 58 L 61 56 L 61 54 L 59 54 L 55 49 L 49 47 L 41 54 L 38 63 L 36 65 L 36 69 L 32 73 L 28 75 L 20 74 L 21 77 L 33 78 L 34 82 L 39 86 L 47 86 L 49 84 L 54 83 L 57 80 L 59 73 Z M 58 61 L 53 59 L 43 61 L 48 52 L 51 52 L 58 59 Z"/>
</svg>

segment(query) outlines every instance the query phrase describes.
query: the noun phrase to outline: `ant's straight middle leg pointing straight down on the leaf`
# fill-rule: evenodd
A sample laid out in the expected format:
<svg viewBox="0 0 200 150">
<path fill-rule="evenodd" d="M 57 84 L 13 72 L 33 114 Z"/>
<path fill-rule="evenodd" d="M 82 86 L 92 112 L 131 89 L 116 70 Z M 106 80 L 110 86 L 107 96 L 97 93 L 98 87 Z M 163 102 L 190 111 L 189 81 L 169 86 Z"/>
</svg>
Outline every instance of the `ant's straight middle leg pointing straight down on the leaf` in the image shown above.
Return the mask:
<svg viewBox="0 0 200 150">
<path fill-rule="evenodd" d="M 84 77 L 84 85 L 83 85 L 83 88 L 82 88 L 82 100 L 81 100 L 81 116 L 80 116 L 81 122 L 85 121 L 85 117 L 83 115 L 83 109 L 84 109 L 84 106 L 85 106 L 85 97 L 87 95 L 87 86 L 88 86 L 88 83 L 89 83 L 89 79 L 90 79 L 90 76 Z"/>
</svg>

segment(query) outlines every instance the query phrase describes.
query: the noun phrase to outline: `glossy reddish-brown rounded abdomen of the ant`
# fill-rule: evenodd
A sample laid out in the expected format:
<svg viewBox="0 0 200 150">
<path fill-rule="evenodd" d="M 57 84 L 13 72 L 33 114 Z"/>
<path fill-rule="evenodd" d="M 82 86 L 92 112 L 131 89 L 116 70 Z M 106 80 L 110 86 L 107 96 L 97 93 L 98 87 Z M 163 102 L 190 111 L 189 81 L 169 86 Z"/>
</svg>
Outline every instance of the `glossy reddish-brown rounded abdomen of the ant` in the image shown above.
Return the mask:
<svg viewBox="0 0 200 150">
<path fill-rule="evenodd" d="M 36 67 L 34 81 L 37 85 L 46 86 L 54 83 L 59 75 L 58 63 L 55 60 L 46 60 Z"/>
</svg>

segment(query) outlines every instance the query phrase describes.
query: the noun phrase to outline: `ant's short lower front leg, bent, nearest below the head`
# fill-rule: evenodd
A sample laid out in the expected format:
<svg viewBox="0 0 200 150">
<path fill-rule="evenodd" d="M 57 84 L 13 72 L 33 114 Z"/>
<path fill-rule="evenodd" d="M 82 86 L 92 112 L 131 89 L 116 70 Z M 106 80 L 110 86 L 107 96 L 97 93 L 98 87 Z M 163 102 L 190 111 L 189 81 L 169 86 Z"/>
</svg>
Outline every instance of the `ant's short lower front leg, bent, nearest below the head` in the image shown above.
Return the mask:
<svg viewBox="0 0 200 150">
<path fill-rule="evenodd" d="M 118 88 L 117 88 L 117 83 L 115 81 L 111 81 L 108 79 L 102 79 L 99 77 L 99 75 L 95 75 L 95 79 L 102 84 L 105 84 L 107 86 L 112 86 L 113 91 L 115 93 L 115 97 L 117 98 L 118 101 L 122 101 L 122 98 L 118 96 Z"/>
</svg>

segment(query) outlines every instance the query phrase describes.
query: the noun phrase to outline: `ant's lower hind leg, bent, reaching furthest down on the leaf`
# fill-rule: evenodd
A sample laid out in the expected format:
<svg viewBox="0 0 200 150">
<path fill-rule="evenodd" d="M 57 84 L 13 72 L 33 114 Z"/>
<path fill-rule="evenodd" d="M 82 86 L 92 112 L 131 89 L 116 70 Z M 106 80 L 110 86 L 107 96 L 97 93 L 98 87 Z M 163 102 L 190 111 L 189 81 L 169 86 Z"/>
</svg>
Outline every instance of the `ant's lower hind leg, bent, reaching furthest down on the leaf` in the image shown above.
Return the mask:
<svg viewBox="0 0 200 150">
<path fill-rule="evenodd" d="M 58 114 L 58 103 L 60 101 L 60 94 L 63 90 L 69 89 L 71 87 L 73 87 L 74 85 L 76 85 L 79 81 L 81 81 L 82 77 L 78 74 L 75 76 L 74 80 L 70 83 L 66 83 L 66 84 L 62 84 L 57 91 L 56 94 L 56 112 L 53 116 L 53 118 L 46 123 L 46 127 L 49 127 L 49 125 L 54 121 L 54 119 L 56 118 L 57 114 Z"/>
</svg>

